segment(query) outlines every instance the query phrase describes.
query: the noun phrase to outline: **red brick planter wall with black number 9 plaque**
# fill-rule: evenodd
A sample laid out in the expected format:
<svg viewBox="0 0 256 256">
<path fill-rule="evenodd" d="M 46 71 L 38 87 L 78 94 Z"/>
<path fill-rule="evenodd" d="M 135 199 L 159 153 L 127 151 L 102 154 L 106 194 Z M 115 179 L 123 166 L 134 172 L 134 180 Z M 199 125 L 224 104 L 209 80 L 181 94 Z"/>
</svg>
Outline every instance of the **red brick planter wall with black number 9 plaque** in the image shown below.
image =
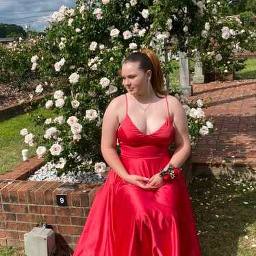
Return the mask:
<svg viewBox="0 0 256 256">
<path fill-rule="evenodd" d="M 24 234 L 41 222 L 55 231 L 57 249 L 70 255 L 83 230 L 95 194 L 102 184 L 79 184 L 75 190 L 57 189 L 62 182 L 27 181 L 44 163 L 31 157 L 0 175 L 0 245 L 24 247 Z M 191 157 L 183 166 L 188 185 Z M 66 194 L 67 206 L 57 205 L 56 195 Z"/>
</svg>

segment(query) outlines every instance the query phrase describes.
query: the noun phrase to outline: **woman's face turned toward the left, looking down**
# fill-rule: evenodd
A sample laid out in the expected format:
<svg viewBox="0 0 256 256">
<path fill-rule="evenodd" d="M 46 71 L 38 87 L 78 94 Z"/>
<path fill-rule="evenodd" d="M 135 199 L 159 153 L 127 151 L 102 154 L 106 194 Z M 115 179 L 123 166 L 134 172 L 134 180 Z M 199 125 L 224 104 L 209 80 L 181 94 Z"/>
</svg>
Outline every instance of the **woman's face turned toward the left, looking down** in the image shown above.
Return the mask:
<svg viewBox="0 0 256 256">
<path fill-rule="evenodd" d="M 151 71 L 144 72 L 139 62 L 127 62 L 122 66 L 121 76 L 126 90 L 131 94 L 140 95 L 147 91 Z"/>
</svg>

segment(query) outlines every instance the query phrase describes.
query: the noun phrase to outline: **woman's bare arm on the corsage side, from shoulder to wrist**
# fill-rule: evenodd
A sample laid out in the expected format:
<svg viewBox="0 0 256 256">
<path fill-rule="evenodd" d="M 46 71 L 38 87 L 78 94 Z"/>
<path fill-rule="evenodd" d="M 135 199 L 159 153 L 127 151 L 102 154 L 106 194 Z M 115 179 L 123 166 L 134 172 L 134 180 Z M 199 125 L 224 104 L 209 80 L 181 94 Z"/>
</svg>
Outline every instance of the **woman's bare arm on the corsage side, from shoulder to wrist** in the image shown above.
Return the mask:
<svg viewBox="0 0 256 256">
<path fill-rule="evenodd" d="M 190 138 L 188 135 L 188 121 L 185 110 L 183 110 L 178 99 L 171 97 L 171 100 L 168 102 L 173 112 L 172 125 L 175 128 L 175 153 L 170 159 L 170 164 L 179 168 L 185 163 L 191 151 Z M 168 165 L 164 169 L 167 168 Z"/>
</svg>

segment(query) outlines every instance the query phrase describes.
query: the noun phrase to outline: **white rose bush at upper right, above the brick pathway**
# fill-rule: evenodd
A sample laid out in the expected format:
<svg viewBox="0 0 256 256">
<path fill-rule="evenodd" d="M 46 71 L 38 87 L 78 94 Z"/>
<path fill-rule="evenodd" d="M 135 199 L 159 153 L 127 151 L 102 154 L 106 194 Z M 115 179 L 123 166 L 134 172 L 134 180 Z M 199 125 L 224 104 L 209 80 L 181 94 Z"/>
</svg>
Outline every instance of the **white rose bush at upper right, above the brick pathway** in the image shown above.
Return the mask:
<svg viewBox="0 0 256 256">
<path fill-rule="evenodd" d="M 246 29 L 240 16 L 226 16 L 227 1 L 201 1 L 201 33 L 190 38 L 190 57 L 201 55 L 208 81 L 225 79 L 244 68 L 245 60 L 232 57 L 243 51 L 256 51 L 256 30 Z"/>
</svg>

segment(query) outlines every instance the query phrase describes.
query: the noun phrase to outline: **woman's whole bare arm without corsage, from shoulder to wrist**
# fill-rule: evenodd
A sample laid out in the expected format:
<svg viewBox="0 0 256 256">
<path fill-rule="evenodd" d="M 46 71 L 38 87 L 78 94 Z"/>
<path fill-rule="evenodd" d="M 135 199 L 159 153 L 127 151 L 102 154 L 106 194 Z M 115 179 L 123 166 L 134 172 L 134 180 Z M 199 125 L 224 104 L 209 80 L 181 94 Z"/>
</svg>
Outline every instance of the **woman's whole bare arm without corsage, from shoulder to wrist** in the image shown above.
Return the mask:
<svg viewBox="0 0 256 256">
<path fill-rule="evenodd" d="M 112 168 L 121 179 L 129 176 L 125 170 L 118 153 L 116 153 L 116 130 L 118 129 L 118 101 L 120 98 L 113 99 L 105 110 L 101 133 L 101 153 L 105 162 Z"/>
</svg>

